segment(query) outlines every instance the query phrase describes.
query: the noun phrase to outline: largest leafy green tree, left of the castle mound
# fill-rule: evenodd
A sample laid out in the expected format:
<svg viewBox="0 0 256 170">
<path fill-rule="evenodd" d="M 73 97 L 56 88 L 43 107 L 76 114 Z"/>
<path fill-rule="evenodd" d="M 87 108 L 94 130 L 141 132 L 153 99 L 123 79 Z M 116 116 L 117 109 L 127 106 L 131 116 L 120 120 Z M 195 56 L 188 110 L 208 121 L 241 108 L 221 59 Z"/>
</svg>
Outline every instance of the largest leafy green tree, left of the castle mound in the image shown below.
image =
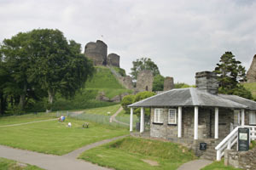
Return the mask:
<svg viewBox="0 0 256 170">
<path fill-rule="evenodd" d="M 38 29 L 30 32 L 30 48 L 34 66 L 30 78 L 48 93 L 47 111 L 51 111 L 56 93 L 68 98 L 84 87 L 84 82 L 92 77 L 94 67 L 81 54 L 81 45 L 67 42 L 59 30 Z"/>
</svg>

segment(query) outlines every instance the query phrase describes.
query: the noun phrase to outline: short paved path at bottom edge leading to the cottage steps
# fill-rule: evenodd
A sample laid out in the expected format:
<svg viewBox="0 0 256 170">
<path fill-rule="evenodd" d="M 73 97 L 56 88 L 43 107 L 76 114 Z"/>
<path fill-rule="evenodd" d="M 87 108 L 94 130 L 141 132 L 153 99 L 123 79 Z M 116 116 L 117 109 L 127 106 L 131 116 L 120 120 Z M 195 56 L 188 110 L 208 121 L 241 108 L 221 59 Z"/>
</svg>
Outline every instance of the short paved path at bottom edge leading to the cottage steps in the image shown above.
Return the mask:
<svg viewBox="0 0 256 170">
<path fill-rule="evenodd" d="M 200 170 L 202 167 L 206 167 L 211 163 L 212 161 L 202 159 L 188 161 L 187 163 L 184 163 L 182 166 L 178 167 L 177 170 Z"/>
</svg>

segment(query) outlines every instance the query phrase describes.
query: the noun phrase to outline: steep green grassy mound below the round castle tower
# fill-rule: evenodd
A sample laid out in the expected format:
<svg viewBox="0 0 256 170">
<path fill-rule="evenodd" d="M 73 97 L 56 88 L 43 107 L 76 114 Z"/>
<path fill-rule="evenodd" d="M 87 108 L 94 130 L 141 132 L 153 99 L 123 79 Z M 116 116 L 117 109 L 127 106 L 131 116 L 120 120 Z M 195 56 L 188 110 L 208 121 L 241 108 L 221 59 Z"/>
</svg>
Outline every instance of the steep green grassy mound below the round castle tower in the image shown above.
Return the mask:
<svg viewBox="0 0 256 170">
<path fill-rule="evenodd" d="M 116 105 L 116 103 L 96 100 L 96 96 L 100 92 L 103 92 L 108 99 L 112 99 L 119 94 L 131 94 L 132 91 L 119 84 L 108 67 L 97 66 L 94 77 L 85 83 L 85 87 L 81 89 L 73 99 L 63 99 L 60 94 L 56 94 L 53 111 L 78 110 Z M 34 107 L 32 109 L 27 111 L 44 111 L 44 103 L 45 101 L 37 102 L 33 104 Z"/>
</svg>

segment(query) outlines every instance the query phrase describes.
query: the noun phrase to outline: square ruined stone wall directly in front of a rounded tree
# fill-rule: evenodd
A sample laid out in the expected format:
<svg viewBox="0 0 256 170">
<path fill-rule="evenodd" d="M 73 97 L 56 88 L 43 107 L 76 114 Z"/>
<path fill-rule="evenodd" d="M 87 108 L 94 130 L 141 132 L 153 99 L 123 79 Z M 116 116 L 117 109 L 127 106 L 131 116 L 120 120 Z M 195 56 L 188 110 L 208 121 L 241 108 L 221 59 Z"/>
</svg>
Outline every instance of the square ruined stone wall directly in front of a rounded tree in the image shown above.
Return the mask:
<svg viewBox="0 0 256 170">
<path fill-rule="evenodd" d="M 151 71 L 140 71 L 137 74 L 137 91 L 149 91 L 152 92 L 154 77 Z"/>
</svg>

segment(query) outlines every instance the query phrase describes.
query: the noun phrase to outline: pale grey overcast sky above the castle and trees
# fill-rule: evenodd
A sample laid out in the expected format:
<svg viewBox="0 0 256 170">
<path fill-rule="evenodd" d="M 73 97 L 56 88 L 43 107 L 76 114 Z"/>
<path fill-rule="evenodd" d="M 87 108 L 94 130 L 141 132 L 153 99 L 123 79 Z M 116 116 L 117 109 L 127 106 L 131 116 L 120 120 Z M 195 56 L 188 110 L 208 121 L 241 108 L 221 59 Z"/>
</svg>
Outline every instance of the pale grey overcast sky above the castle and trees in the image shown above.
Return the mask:
<svg viewBox="0 0 256 170">
<path fill-rule="evenodd" d="M 108 54 L 151 58 L 161 75 L 195 84 L 225 51 L 248 70 L 256 54 L 256 0 L 0 0 L 0 41 L 20 31 L 59 29 L 84 46 L 97 39 Z"/>
</svg>

